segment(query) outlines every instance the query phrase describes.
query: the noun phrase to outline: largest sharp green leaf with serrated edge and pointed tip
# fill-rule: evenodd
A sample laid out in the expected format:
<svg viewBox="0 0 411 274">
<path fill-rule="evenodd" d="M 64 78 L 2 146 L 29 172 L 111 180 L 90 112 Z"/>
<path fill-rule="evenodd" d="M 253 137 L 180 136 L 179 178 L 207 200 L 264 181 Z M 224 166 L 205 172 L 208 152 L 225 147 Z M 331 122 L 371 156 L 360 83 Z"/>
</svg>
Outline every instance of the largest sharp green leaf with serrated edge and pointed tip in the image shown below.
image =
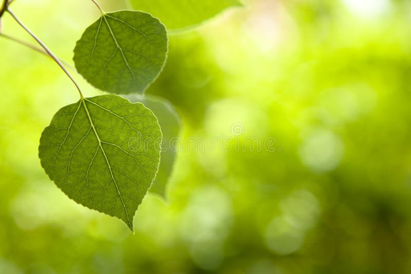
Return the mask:
<svg viewBox="0 0 411 274">
<path fill-rule="evenodd" d="M 161 138 L 150 109 L 102 95 L 60 109 L 42 133 L 39 156 L 69 198 L 133 230 L 134 214 L 156 177 Z"/>
</svg>

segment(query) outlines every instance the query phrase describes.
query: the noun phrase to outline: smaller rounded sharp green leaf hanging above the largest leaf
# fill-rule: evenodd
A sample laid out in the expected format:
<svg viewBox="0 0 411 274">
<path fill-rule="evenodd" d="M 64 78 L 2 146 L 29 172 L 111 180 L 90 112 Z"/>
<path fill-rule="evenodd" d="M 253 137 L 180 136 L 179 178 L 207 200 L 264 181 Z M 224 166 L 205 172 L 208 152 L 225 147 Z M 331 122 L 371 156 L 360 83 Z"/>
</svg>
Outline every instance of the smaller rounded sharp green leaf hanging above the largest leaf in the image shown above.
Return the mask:
<svg viewBox="0 0 411 274">
<path fill-rule="evenodd" d="M 85 79 L 117 94 L 142 93 L 161 72 L 167 54 L 165 27 L 148 13 L 105 13 L 74 48 L 74 64 Z"/>
</svg>

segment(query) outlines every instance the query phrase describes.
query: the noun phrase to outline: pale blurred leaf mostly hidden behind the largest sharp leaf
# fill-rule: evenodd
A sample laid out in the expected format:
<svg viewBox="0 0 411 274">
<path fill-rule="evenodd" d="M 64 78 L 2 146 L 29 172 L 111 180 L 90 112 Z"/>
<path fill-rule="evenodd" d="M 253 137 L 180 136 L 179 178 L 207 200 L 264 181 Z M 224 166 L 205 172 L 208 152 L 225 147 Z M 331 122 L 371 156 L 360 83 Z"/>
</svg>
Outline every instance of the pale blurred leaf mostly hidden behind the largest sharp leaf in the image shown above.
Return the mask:
<svg viewBox="0 0 411 274">
<path fill-rule="evenodd" d="M 130 102 L 143 103 L 147 108 L 157 116 L 158 123 L 163 133 L 163 141 L 161 146 L 161 163 L 157 172 L 157 177 L 153 182 L 150 192 L 157 193 L 163 198 L 167 182 L 169 181 L 171 172 L 173 171 L 174 161 L 176 159 L 176 144 L 173 145 L 173 140 L 178 138 L 181 130 L 181 119 L 176 109 L 167 100 L 153 95 L 132 94 L 125 96 Z"/>
</svg>

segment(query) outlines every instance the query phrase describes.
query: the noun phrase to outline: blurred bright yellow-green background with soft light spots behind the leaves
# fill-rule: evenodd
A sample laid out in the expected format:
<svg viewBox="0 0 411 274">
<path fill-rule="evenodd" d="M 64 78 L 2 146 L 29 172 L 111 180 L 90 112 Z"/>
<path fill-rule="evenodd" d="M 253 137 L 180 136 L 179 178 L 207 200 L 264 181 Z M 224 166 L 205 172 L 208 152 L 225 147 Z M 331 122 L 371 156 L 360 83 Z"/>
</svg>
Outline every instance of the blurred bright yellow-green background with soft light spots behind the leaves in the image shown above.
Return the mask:
<svg viewBox="0 0 411 274">
<path fill-rule="evenodd" d="M 240 124 L 233 144 L 271 137 L 275 151 L 184 147 L 135 236 L 49 181 L 40 134 L 77 91 L 0 37 L 0 273 L 411 273 L 411 2 L 245 3 L 171 36 L 147 93 L 177 108 L 183 141 Z M 99 16 L 90 1 L 13 10 L 69 62 Z M 8 14 L 2 31 L 31 42 Z"/>
</svg>

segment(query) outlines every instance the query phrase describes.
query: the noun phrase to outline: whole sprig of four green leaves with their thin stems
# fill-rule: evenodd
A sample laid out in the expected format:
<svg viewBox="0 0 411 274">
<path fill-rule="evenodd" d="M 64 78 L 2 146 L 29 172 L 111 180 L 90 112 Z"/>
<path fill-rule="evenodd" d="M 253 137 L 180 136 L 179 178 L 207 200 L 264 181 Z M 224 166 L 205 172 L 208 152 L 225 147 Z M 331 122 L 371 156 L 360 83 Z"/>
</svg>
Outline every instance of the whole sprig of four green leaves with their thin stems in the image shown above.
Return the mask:
<svg viewBox="0 0 411 274">
<path fill-rule="evenodd" d="M 105 13 L 92 0 L 101 17 L 86 28 L 74 48 L 74 65 L 87 82 L 103 91 L 134 94 L 128 98 L 152 108 L 153 114 L 142 104 L 133 104 L 117 95 L 85 99 L 80 86 L 64 67 L 63 63 L 67 63 L 61 62 L 8 9 L 11 2 L 4 0 L 0 17 L 8 11 L 42 48 L 0 34 L 50 56 L 80 93 L 80 101 L 59 110 L 43 131 L 39 147 L 43 168 L 69 198 L 117 217 L 133 230 L 135 211 L 148 189 L 165 198 L 176 159 L 172 140 L 178 137 L 181 128 L 180 118 L 169 102 L 138 95 L 144 93 L 164 67 L 169 43 L 165 26 L 158 18 L 141 11 Z M 170 29 L 182 29 L 241 3 L 158 0 L 142 1 L 138 5 L 139 9 L 161 17 Z M 162 148 L 161 141 L 164 141 Z"/>
</svg>

